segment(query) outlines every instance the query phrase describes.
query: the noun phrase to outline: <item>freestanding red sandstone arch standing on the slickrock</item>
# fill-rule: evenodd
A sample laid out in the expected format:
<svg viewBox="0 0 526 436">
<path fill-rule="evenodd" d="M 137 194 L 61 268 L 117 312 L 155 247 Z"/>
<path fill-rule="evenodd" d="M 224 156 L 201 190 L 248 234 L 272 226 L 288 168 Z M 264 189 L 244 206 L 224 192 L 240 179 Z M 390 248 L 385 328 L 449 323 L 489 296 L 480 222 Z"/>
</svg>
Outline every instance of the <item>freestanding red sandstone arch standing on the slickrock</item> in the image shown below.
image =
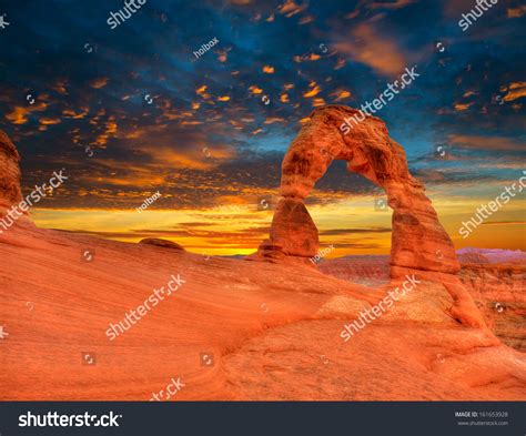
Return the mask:
<svg viewBox="0 0 526 436">
<path fill-rule="evenodd" d="M 393 209 L 391 276 L 426 273 L 441 281 L 455 305 L 452 316 L 466 325 L 483 326 L 481 314 L 456 274 L 461 266 L 455 249 L 427 199 L 424 185 L 407 168 L 402 145 L 390 138 L 385 123 L 366 116 L 348 134 L 344 121 L 358 111 L 342 105 L 316 109 L 283 159 L 277 206 L 270 239 L 249 260 L 294 261 L 308 264 L 318 249 L 317 230 L 303 201 L 334 160 L 383 187 Z"/>
</svg>

